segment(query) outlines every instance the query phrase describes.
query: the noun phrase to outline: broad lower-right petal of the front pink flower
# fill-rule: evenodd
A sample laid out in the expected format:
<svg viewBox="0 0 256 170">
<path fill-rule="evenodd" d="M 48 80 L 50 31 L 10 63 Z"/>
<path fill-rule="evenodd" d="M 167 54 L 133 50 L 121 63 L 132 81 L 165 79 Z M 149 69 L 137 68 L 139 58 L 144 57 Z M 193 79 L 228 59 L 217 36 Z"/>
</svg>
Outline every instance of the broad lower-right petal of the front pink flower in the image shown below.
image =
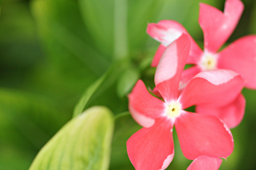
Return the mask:
<svg viewBox="0 0 256 170">
<path fill-rule="evenodd" d="M 174 124 L 187 159 L 201 155 L 226 158 L 233 152 L 232 134 L 216 116 L 183 111 Z"/>
</svg>

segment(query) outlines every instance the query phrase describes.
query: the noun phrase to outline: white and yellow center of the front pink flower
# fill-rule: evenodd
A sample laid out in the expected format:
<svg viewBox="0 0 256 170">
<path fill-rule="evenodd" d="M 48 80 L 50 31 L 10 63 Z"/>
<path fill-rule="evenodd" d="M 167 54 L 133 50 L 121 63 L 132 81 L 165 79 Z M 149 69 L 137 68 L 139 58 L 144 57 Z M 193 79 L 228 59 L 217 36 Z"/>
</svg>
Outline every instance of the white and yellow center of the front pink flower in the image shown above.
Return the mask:
<svg viewBox="0 0 256 170">
<path fill-rule="evenodd" d="M 169 118 L 176 118 L 180 116 L 181 104 L 177 101 L 171 101 L 171 103 L 166 104 L 166 116 Z"/>
</svg>

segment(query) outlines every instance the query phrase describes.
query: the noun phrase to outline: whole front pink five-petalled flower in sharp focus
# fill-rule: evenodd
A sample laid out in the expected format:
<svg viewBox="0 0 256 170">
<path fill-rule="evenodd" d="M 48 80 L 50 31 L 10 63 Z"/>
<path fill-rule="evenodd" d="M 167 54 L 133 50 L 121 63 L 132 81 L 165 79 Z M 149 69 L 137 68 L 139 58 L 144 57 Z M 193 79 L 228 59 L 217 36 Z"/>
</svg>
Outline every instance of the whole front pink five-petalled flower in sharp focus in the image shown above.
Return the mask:
<svg viewBox="0 0 256 170">
<path fill-rule="evenodd" d="M 155 84 L 164 101 L 150 95 L 142 80 L 129 94 L 131 115 L 144 127 L 127 141 L 127 153 L 135 169 L 168 167 L 174 157 L 174 125 L 187 159 L 201 155 L 226 158 L 233 152 L 232 134 L 220 118 L 184 109 L 203 103 L 220 107 L 229 103 L 240 93 L 243 79 L 230 70 L 205 71 L 197 74 L 179 95 L 190 44 L 189 37 L 183 34 L 167 46 L 160 59 Z"/>
</svg>

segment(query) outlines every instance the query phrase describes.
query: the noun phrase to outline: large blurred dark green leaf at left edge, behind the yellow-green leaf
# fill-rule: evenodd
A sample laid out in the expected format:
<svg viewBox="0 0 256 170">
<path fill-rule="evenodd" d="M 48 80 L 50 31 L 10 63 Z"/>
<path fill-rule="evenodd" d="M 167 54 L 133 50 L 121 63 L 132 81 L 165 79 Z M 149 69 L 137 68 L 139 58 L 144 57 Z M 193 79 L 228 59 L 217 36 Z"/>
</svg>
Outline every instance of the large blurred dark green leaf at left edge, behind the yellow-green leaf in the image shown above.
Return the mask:
<svg viewBox="0 0 256 170">
<path fill-rule="evenodd" d="M 55 100 L 26 91 L 1 87 L 0 96 L 0 169 L 28 169 L 70 114 Z"/>
</svg>

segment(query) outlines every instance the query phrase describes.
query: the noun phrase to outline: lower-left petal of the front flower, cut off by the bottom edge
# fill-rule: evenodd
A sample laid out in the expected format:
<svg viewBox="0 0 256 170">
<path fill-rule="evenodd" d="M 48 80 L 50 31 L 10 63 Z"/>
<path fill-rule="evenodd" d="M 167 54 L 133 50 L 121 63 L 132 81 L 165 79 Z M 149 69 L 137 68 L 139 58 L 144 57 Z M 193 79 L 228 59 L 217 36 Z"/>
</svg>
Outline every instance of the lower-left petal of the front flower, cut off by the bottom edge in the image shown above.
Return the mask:
<svg viewBox="0 0 256 170">
<path fill-rule="evenodd" d="M 166 169 L 174 158 L 173 122 L 159 118 L 127 141 L 127 153 L 135 169 Z"/>
</svg>

